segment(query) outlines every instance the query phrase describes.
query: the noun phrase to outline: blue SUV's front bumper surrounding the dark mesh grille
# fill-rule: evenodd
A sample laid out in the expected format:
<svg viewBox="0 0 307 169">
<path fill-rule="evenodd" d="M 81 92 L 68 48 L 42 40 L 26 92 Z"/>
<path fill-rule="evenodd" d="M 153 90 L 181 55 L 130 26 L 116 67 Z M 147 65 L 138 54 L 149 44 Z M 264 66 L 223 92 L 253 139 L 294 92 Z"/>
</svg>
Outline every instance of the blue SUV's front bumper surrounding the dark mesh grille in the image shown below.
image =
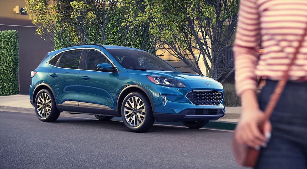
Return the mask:
<svg viewBox="0 0 307 169">
<path fill-rule="evenodd" d="M 221 87 L 211 88 L 172 88 L 161 85 L 151 86 L 149 90 L 153 105 L 153 116 L 157 121 L 195 121 L 195 120 L 218 120 L 225 115 L 225 107 L 223 105 L 224 97 L 219 105 L 195 105 L 192 104 L 187 97 L 187 93 L 191 91 L 220 91 L 223 93 Z M 166 104 L 163 105 L 161 95 L 166 97 Z"/>
</svg>

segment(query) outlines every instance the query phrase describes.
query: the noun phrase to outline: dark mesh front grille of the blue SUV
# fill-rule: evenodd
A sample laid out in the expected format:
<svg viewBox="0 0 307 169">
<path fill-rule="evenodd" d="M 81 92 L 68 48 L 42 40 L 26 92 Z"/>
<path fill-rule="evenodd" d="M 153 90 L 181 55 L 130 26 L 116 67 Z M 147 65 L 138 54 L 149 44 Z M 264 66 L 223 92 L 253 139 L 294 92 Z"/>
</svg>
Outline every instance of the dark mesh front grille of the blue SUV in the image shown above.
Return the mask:
<svg viewBox="0 0 307 169">
<path fill-rule="evenodd" d="M 223 100 L 223 93 L 220 91 L 192 91 L 186 97 L 195 105 L 219 105 Z"/>
</svg>

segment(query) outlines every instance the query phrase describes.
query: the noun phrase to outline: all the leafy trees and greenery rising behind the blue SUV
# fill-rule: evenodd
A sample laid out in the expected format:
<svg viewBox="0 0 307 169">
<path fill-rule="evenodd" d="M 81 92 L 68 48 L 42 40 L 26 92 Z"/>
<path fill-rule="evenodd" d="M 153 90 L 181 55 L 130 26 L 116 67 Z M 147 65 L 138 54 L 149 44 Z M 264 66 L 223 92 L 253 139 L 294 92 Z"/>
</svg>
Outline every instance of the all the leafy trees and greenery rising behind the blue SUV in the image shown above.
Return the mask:
<svg viewBox="0 0 307 169">
<path fill-rule="evenodd" d="M 97 43 L 155 53 L 163 46 L 200 75 L 200 58 L 207 76 L 215 80 L 223 82 L 234 71 L 228 69 L 231 61 L 222 60 L 226 46 L 233 42 L 239 0 L 25 2 L 37 33 L 50 39 L 55 49 Z"/>
</svg>

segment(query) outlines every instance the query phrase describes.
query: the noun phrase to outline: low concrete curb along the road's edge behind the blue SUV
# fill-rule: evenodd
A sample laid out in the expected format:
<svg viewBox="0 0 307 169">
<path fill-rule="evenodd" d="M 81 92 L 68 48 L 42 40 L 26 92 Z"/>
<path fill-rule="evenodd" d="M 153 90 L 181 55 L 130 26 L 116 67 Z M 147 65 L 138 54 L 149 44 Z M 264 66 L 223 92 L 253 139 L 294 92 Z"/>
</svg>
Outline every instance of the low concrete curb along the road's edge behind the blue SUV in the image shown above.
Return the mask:
<svg viewBox="0 0 307 169">
<path fill-rule="evenodd" d="M 0 111 L 35 113 L 34 108 L 20 108 L 20 107 L 1 106 L 1 105 L 0 105 Z M 114 117 L 112 120 L 122 121 L 122 118 L 121 117 Z M 164 125 L 184 126 L 185 127 L 185 125 L 181 122 L 155 122 L 155 124 L 164 124 Z M 237 123 L 234 123 L 234 122 L 210 121 L 204 128 L 234 130 L 236 125 L 237 125 Z"/>
</svg>

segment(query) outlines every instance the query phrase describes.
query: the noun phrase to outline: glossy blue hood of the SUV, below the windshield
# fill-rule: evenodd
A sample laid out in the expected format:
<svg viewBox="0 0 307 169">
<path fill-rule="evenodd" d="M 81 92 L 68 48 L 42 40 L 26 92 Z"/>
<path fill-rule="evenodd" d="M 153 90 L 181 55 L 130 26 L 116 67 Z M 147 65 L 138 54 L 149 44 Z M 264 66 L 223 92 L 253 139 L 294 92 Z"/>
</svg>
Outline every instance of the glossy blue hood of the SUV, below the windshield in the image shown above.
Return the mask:
<svg viewBox="0 0 307 169">
<path fill-rule="evenodd" d="M 157 70 L 147 70 L 146 72 L 151 72 L 151 73 L 153 73 L 153 75 L 157 75 L 157 76 L 171 77 L 171 78 L 177 79 L 179 81 L 216 82 L 215 80 L 213 80 L 213 79 L 211 79 L 209 77 L 195 75 L 195 74 L 190 74 L 190 73 L 168 72 L 168 71 L 157 71 Z"/>
</svg>

